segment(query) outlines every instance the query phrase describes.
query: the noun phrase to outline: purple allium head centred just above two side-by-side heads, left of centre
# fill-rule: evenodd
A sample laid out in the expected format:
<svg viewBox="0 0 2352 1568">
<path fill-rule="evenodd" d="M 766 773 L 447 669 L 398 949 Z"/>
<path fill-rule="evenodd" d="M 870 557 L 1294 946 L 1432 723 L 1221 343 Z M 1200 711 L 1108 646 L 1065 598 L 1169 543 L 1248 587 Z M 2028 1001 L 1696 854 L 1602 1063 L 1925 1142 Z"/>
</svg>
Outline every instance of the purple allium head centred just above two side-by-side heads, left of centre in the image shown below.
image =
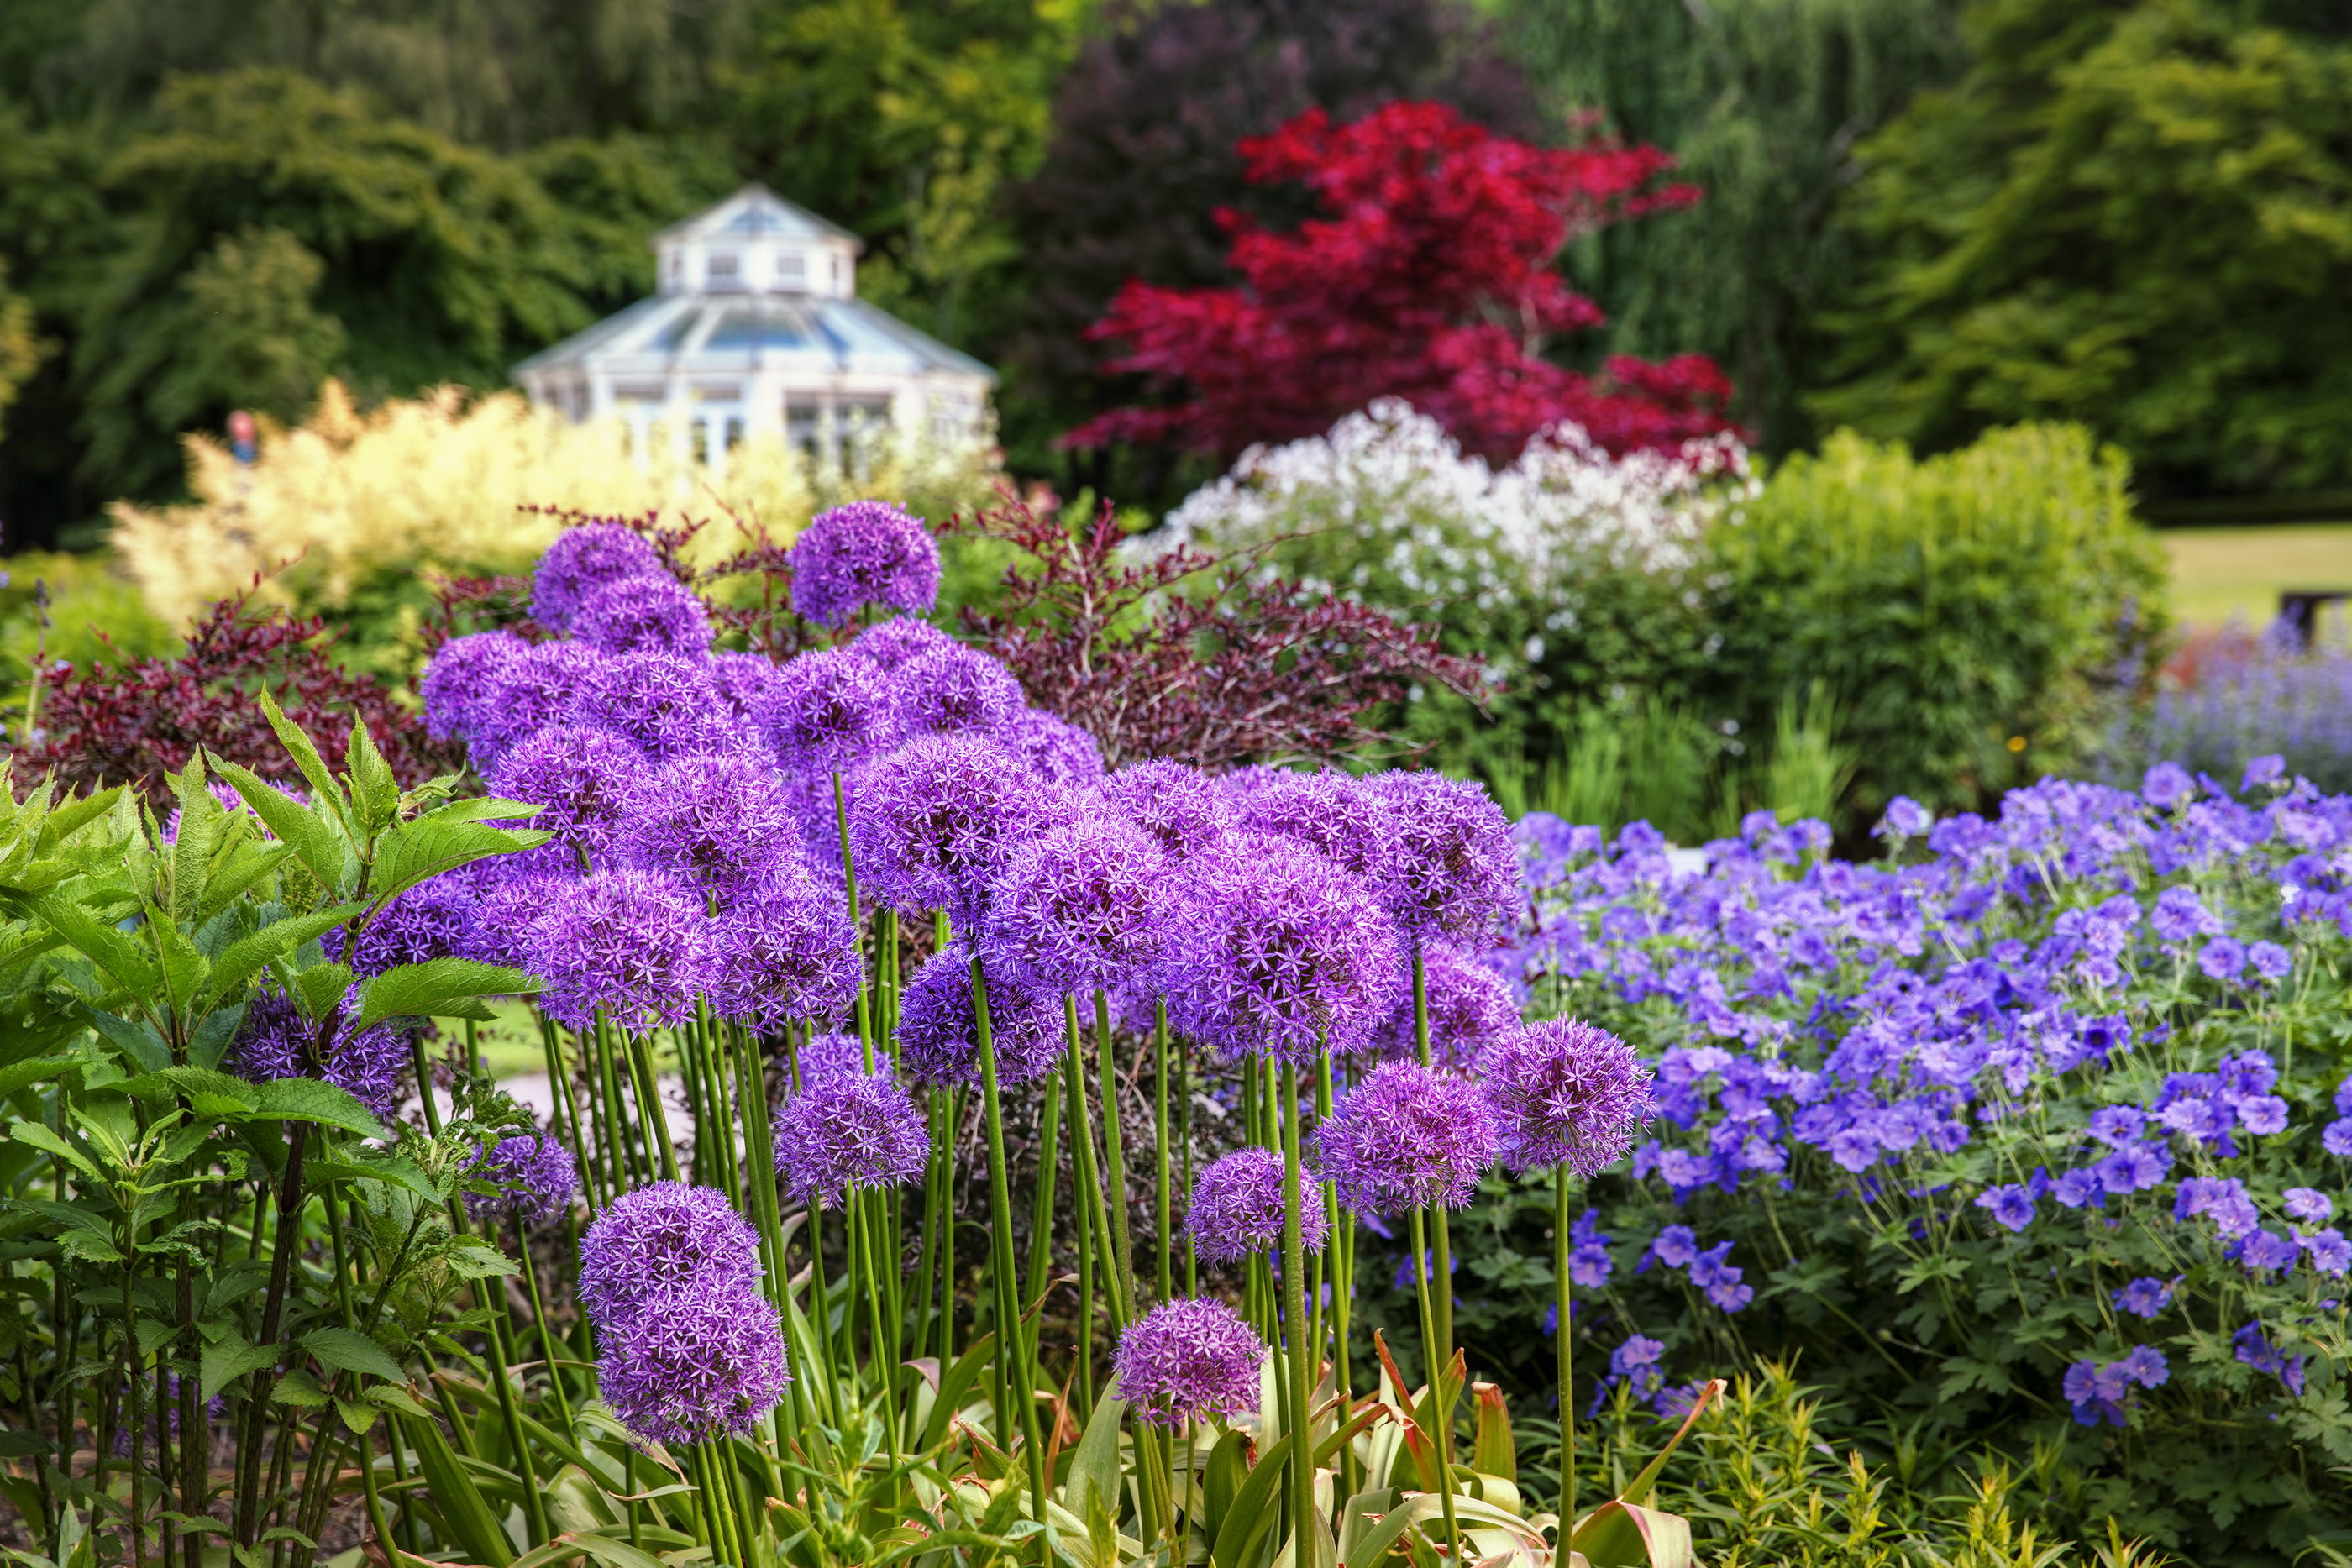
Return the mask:
<svg viewBox="0 0 2352 1568">
<path fill-rule="evenodd" d="M 800 827 L 764 759 L 680 757 L 637 778 L 616 846 L 633 865 L 724 898 L 797 858 Z"/>
</svg>

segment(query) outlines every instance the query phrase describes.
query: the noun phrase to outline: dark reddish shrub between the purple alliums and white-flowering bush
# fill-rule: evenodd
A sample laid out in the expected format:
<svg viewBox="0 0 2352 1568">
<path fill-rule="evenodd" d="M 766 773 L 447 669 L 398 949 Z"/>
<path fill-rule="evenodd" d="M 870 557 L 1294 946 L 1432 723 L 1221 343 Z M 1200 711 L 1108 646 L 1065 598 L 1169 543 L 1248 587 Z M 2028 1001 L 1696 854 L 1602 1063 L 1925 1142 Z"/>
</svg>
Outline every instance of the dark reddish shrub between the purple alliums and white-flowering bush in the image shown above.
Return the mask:
<svg viewBox="0 0 2352 1568">
<path fill-rule="evenodd" d="M 1033 705 L 1096 738 L 1110 766 L 1176 757 L 1204 769 L 1409 750 L 1378 710 L 1414 684 L 1479 698 L 1484 668 L 1383 611 L 1265 581 L 1192 545 L 1127 559 L 1105 501 L 1070 529 L 1051 498 L 1011 491 L 948 534 L 1016 548 L 1000 609 L 964 630 Z"/>
</svg>

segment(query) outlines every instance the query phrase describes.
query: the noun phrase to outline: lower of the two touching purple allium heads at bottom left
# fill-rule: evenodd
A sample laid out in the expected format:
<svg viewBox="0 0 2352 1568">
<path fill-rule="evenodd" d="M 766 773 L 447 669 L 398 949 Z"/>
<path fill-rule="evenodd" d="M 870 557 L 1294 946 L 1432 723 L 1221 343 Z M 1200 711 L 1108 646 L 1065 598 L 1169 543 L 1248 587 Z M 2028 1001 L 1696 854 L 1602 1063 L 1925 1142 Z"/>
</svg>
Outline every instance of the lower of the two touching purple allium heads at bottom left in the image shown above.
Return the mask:
<svg viewBox="0 0 2352 1568">
<path fill-rule="evenodd" d="M 776 1307 L 715 1284 L 612 1326 L 597 1359 L 612 1413 L 649 1443 L 743 1436 L 790 1380 Z"/>
</svg>

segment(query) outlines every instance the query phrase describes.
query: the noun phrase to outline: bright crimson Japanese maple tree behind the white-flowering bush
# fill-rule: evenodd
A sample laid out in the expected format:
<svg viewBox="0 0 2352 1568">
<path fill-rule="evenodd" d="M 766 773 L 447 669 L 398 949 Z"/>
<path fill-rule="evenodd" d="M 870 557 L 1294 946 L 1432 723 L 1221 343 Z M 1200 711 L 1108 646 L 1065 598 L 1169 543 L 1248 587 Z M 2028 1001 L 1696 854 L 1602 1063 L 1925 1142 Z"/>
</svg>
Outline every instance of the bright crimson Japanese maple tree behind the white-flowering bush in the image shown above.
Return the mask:
<svg viewBox="0 0 2352 1568">
<path fill-rule="evenodd" d="M 1301 181 L 1329 216 L 1282 235 L 1221 212 L 1237 289 L 1129 280 L 1089 336 L 1127 343 L 1108 369 L 1188 397 L 1112 409 L 1063 444 L 1176 442 L 1230 458 L 1317 435 L 1383 395 L 1494 461 L 1564 418 L 1611 451 L 1729 428 L 1731 383 L 1700 355 L 1621 357 L 1604 376 L 1538 357 L 1545 336 L 1602 322 L 1550 270 L 1564 244 L 1698 200 L 1696 186 L 1658 183 L 1670 155 L 1604 139 L 1538 148 L 1444 103 L 1388 103 L 1338 127 L 1308 110 L 1242 155 L 1254 183 Z"/>
</svg>

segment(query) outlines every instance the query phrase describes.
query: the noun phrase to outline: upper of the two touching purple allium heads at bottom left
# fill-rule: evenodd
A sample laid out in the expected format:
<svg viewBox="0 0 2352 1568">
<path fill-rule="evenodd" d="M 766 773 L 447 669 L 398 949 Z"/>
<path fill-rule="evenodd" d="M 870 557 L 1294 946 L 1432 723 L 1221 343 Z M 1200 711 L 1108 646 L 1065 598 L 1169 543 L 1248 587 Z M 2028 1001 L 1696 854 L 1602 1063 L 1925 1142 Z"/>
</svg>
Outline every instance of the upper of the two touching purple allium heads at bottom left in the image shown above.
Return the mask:
<svg viewBox="0 0 2352 1568">
<path fill-rule="evenodd" d="M 760 1274 L 760 1237 L 724 1192 L 654 1182 L 616 1197 L 581 1237 L 579 1300 L 609 1333 L 637 1307 L 696 1291 L 750 1295 Z"/>
</svg>

